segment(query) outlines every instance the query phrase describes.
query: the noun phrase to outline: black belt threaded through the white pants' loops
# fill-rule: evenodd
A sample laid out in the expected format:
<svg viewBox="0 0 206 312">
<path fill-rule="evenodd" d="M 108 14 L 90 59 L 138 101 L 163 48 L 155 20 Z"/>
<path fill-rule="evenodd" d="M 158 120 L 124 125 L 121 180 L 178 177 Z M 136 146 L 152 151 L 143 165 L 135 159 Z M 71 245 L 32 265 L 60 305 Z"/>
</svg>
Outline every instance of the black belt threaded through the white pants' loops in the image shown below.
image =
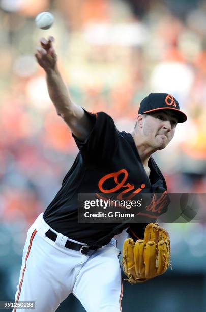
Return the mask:
<svg viewBox="0 0 206 312">
<path fill-rule="evenodd" d="M 50 229 L 46 232 L 46 236 L 50 240 L 52 240 L 53 242 L 56 241 L 57 234 L 52 232 Z M 72 249 L 72 250 L 80 251 L 82 254 L 85 254 L 85 255 L 92 255 L 93 252 L 98 249 L 98 247 L 95 247 L 95 246 L 81 245 L 81 244 L 74 243 L 74 242 L 68 241 L 68 240 L 67 240 L 67 242 L 65 244 L 65 247 L 67 247 L 69 249 Z"/>
</svg>

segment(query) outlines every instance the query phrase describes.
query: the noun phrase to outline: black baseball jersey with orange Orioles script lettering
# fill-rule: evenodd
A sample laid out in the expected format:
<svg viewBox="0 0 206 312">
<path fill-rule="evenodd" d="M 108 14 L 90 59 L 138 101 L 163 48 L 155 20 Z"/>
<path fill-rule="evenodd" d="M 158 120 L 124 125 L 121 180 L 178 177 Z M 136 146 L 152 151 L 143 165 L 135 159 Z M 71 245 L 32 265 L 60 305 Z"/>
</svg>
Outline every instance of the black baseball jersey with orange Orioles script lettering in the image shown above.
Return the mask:
<svg viewBox="0 0 206 312">
<path fill-rule="evenodd" d="M 150 193 L 157 188 L 166 190 L 167 187 L 152 157 L 149 160 L 151 174 L 148 177 L 131 134 L 118 131 L 113 119 L 104 112 L 85 113 L 93 120 L 93 129 L 85 142 L 80 142 L 73 135 L 79 153 L 43 218 L 51 228 L 71 239 L 102 246 L 114 234 L 127 228 L 128 224 L 120 226 L 113 233 L 116 224 L 78 223 L 78 193 L 115 193 L 127 191 L 127 188 L 131 192 L 139 189 Z M 142 224 L 130 224 L 128 232 L 134 237 L 140 237 L 142 227 Z"/>
</svg>

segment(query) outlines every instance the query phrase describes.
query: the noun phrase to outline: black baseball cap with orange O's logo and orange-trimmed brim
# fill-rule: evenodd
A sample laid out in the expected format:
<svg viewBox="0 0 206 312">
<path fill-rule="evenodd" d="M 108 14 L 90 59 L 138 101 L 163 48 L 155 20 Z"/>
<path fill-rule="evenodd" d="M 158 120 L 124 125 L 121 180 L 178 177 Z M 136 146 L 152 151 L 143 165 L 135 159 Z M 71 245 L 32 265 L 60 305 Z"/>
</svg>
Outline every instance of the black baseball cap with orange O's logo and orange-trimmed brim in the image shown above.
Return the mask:
<svg viewBox="0 0 206 312">
<path fill-rule="evenodd" d="M 178 101 L 168 93 L 150 93 L 140 103 L 138 114 L 147 114 L 157 110 L 172 110 L 179 123 L 187 120 L 185 113 L 180 111 Z"/>
</svg>

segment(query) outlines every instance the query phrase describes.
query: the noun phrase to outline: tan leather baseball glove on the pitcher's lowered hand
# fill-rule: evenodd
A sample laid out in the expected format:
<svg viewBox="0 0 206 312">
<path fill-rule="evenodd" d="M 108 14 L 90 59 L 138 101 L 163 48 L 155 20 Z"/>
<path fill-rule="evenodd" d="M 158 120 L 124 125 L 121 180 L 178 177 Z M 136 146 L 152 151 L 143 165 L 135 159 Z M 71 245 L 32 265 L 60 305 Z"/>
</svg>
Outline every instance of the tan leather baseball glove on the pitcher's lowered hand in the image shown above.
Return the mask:
<svg viewBox="0 0 206 312">
<path fill-rule="evenodd" d="M 159 224 L 150 223 L 145 228 L 143 240 L 126 239 L 122 264 L 131 284 L 145 282 L 166 272 L 169 265 L 171 267 L 168 232 Z"/>
</svg>

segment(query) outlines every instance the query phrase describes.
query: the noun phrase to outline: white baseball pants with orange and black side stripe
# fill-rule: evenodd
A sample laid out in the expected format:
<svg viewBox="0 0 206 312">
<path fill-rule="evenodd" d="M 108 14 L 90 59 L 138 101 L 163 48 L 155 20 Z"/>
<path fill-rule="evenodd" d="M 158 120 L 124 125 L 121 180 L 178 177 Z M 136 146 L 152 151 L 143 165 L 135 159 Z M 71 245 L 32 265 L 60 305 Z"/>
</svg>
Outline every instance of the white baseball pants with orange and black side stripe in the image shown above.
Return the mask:
<svg viewBox="0 0 206 312">
<path fill-rule="evenodd" d="M 53 229 L 56 241 L 47 238 L 49 229 L 41 213 L 28 230 L 15 301 L 35 301 L 32 311 L 53 312 L 73 293 L 88 312 L 121 311 L 123 288 L 116 240 L 112 238 L 87 256 L 64 247 L 68 238 Z M 23 308 L 13 312 L 18 310 L 28 312 Z"/>
</svg>

